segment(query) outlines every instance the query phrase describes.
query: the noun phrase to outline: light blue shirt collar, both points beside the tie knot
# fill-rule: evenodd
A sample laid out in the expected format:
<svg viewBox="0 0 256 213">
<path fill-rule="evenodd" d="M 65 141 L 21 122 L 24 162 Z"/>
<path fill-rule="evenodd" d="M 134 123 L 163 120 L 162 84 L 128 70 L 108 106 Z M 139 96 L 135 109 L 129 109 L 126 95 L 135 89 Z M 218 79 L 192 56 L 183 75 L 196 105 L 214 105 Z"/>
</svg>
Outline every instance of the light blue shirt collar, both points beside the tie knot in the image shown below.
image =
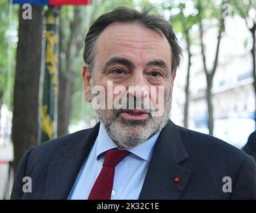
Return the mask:
<svg viewBox="0 0 256 213">
<path fill-rule="evenodd" d="M 157 142 L 159 133 L 160 131 L 151 136 L 151 138 L 149 138 L 145 142 L 127 150 L 129 150 L 129 152 L 135 154 L 136 156 L 139 156 L 139 158 L 142 158 L 143 160 L 150 161 L 153 154 L 153 148 L 155 147 L 155 143 Z M 103 124 L 100 124 L 99 134 L 96 139 L 96 157 L 99 158 L 99 155 L 103 154 L 103 152 L 107 152 L 107 150 L 110 150 L 112 148 L 118 148 L 118 146 L 109 137 L 109 134 L 107 134 L 107 131 L 105 130 Z"/>
</svg>

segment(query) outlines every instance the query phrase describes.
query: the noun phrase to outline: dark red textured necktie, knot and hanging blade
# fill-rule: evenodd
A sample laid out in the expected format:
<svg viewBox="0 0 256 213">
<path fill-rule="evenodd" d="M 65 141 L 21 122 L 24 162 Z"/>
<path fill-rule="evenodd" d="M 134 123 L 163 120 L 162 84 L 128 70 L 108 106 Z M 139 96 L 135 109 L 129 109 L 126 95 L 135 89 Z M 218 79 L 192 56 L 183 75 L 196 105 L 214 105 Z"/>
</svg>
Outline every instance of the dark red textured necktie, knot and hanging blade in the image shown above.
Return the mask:
<svg viewBox="0 0 256 213">
<path fill-rule="evenodd" d="M 129 151 L 120 149 L 111 149 L 107 151 L 101 172 L 97 177 L 93 188 L 89 194 L 88 200 L 109 200 L 113 188 L 115 166 L 123 160 Z"/>
</svg>

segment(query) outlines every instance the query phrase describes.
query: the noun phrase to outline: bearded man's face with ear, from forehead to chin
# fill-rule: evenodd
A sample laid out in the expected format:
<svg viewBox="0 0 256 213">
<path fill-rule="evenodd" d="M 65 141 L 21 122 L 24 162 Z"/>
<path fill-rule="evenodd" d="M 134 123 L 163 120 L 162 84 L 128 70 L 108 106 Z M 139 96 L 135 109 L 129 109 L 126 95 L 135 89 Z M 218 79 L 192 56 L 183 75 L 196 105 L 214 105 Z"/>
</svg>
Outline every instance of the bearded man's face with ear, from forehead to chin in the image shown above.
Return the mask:
<svg viewBox="0 0 256 213">
<path fill-rule="evenodd" d="M 86 67 L 83 70 L 87 101 L 96 97 L 92 93 L 94 86 L 105 89 L 105 102 L 111 101 L 111 107 L 115 105 L 112 100 L 121 101 L 121 97 L 127 97 L 125 109 L 107 105 L 95 111 L 117 145 L 137 146 L 161 130 L 169 120 L 175 77 L 175 72 L 171 75 L 171 47 L 164 35 L 152 29 L 113 23 L 99 35 L 95 52 L 93 78 Z M 108 84 L 113 87 L 111 91 L 108 91 Z M 113 92 L 117 86 L 125 90 L 121 94 Z M 131 86 L 141 89 L 141 93 L 132 93 Z M 134 101 L 132 109 L 131 98 Z M 146 105 L 146 99 L 151 105 Z M 139 110 L 135 106 L 138 102 L 141 104 Z M 153 112 L 159 110 L 163 113 L 153 116 Z"/>
</svg>

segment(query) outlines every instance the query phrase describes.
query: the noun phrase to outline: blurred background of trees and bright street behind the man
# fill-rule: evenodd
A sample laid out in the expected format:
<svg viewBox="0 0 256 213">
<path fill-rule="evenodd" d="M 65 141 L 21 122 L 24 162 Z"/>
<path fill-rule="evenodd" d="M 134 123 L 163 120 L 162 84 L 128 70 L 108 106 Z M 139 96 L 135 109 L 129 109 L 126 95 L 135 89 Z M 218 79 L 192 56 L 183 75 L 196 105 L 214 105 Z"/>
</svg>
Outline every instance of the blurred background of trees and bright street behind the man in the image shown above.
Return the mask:
<svg viewBox="0 0 256 213">
<path fill-rule="evenodd" d="M 1 0 L 0 199 L 25 150 L 96 124 L 81 78 L 91 23 L 145 5 L 170 21 L 183 49 L 173 122 L 245 146 L 256 120 L 255 0 Z"/>
</svg>

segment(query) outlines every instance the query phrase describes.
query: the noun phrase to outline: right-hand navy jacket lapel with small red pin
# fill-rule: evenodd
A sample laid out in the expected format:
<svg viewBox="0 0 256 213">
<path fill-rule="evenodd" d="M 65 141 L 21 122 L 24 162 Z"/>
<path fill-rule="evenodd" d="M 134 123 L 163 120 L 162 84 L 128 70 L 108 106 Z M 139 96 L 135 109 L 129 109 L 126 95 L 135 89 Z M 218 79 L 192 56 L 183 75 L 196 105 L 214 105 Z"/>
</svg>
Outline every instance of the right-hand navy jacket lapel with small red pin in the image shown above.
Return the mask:
<svg viewBox="0 0 256 213">
<path fill-rule="evenodd" d="M 159 134 L 139 199 L 179 199 L 191 176 L 180 165 L 187 158 L 179 129 L 169 120 Z"/>
</svg>

